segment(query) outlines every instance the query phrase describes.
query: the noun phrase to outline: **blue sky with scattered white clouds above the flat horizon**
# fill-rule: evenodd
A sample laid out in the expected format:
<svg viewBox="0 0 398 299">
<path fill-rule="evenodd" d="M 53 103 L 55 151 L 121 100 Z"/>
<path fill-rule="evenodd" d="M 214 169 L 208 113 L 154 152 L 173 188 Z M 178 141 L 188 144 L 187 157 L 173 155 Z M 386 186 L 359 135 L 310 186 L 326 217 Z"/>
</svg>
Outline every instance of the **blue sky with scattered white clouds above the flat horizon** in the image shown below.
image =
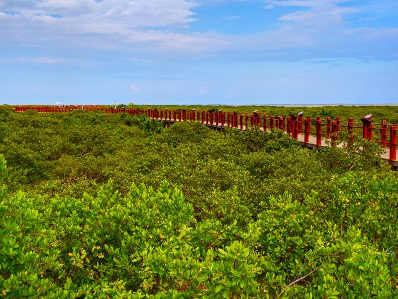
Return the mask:
<svg viewBox="0 0 398 299">
<path fill-rule="evenodd" d="M 0 0 L 1 104 L 398 103 L 398 0 Z"/>
</svg>

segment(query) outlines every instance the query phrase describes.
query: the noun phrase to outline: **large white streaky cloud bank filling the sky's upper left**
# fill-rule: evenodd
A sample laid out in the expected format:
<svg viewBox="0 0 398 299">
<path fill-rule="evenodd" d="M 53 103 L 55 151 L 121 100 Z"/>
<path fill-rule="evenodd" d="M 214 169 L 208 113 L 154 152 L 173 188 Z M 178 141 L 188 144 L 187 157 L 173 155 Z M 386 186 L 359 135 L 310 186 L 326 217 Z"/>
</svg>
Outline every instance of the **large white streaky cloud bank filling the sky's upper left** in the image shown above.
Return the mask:
<svg viewBox="0 0 398 299">
<path fill-rule="evenodd" d="M 0 38 L 7 44 L 136 51 L 222 47 L 217 38 L 176 29 L 195 21 L 193 0 L 3 0 Z M 56 16 L 56 17 L 54 17 Z"/>
</svg>

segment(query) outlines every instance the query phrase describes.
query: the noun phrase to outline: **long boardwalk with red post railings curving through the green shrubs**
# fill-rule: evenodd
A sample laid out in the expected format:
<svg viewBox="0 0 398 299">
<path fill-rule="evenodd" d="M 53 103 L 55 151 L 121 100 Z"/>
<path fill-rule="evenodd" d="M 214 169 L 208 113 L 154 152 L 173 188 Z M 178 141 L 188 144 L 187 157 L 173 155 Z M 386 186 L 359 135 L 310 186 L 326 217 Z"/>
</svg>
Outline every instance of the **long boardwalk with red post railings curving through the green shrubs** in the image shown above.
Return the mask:
<svg viewBox="0 0 398 299">
<path fill-rule="evenodd" d="M 114 109 L 103 108 L 102 106 L 15 106 L 15 112 L 25 112 L 26 110 L 36 110 L 41 113 L 62 113 L 74 110 L 101 111 L 104 113 L 127 113 L 130 115 L 143 115 L 151 119 L 166 122 L 185 122 L 198 121 L 209 127 L 215 128 L 235 128 L 246 130 L 247 126 L 258 126 L 262 130 L 280 129 L 285 131 L 290 137 L 301 141 L 306 146 L 315 146 L 316 148 L 325 146 L 324 141 L 330 140 L 331 146 L 336 145 L 339 134 L 346 132 L 351 139 L 353 134 L 361 134 L 364 139 L 373 140 L 379 143 L 382 148 L 389 151 L 389 156 L 383 156 L 388 159 L 390 164 L 397 161 L 397 125 L 388 124 L 387 121 L 381 123 L 372 123 L 372 115 L 361 119 L 361 122 L 354 122 L 352 118 L 342 121 L 340 118 L 332 120 L 330 117 L 321 119 L 320 117 L 303 118 L 302 112 L 298 116 L 291 114 L 272 115 L 261 114 L 257 110 L 253 113 L 236 112 L 205 112 L 186 110 L 157 110 L 157 109 Z"/>
</svg>

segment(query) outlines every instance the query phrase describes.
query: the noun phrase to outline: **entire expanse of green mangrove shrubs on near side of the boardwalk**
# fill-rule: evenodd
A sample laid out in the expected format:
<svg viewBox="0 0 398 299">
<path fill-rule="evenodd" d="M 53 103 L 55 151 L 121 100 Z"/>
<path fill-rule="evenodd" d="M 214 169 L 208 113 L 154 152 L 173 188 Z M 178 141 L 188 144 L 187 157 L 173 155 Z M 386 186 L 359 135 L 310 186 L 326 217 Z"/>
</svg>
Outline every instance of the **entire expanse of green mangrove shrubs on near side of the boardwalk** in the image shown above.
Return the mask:
<svg viewBox="0 0 398 299">
<path fill-rule="evenodd" d="M 397 173 L 370 142 L 3 108 L 0 152 L 0 297 L 398 297 Z"/>
</svg>

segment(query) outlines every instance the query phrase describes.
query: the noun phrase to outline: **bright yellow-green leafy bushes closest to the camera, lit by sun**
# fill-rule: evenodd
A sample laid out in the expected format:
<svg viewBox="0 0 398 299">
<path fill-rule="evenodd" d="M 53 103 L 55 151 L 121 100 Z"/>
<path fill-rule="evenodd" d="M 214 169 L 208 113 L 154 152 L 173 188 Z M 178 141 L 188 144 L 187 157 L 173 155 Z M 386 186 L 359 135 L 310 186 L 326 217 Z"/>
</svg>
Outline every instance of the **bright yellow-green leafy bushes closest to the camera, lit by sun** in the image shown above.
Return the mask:
<svg viewBox="0 0 398 299">
<path fill-rule="evenodd" d="M 352 191 L 362 184 L 342 178 L 332 205 L 315 191 L 301 203 L 270 196 L 256 220 L 226 192 L 199 221 L 166 182 L 51 199 L 6 198 L 3 186 L 0 296 L 396 297 L 398 183 L 372 179 Z"/>
</svg>

